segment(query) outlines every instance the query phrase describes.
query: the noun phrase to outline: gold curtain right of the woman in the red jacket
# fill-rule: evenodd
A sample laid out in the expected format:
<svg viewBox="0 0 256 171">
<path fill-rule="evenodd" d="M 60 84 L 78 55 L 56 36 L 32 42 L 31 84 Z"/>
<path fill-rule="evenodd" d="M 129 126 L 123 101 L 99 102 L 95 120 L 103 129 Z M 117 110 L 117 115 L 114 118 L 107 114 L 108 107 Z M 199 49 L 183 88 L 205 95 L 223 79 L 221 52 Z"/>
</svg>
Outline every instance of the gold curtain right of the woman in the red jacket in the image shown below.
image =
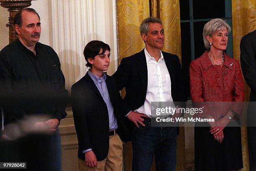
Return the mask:
<svg viewBox="0 0 256 171">
<path fill-rule="evenodd" d="M 256 1 L 255 0 L 232 0 L 232 25 L 233 25 L 233 56 L 240 61 L 240 41 L 247 33 L 256 29 Z M 245 84 L 246 101 L 249 100 L 250 88 Z M 246 115 L 246 109 L 244 110 Z M 249 157 L 247 145 L 247 129 L 241 128 L 243 169 L 249 171 Z"/>
</svg>

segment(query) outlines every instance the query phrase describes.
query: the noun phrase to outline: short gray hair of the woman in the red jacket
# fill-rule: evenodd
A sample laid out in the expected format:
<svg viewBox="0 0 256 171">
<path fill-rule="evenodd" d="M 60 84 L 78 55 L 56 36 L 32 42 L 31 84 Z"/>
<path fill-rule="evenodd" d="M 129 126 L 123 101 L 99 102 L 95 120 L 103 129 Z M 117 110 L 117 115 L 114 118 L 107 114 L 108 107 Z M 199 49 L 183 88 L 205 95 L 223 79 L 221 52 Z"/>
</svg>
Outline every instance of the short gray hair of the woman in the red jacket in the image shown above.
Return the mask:
<svg viewBox="0 0 256 171">
<path fill-rule="evenodd" d="M 228 23 L 220 18 L 212 19 L 205 24 L 203 31 L 203 39 L 206 49 L 210 49 L 210 43 L 209 41 L 207 41 L 206 36 L 209 35 L 211 37 L 212 34 L 214 34 L 216 31 L 221 31 L 223 29 L 227 29 L 228 33 L 230 33 L 231 31 L 231 28 L 228 25 Z"/>
</svg>

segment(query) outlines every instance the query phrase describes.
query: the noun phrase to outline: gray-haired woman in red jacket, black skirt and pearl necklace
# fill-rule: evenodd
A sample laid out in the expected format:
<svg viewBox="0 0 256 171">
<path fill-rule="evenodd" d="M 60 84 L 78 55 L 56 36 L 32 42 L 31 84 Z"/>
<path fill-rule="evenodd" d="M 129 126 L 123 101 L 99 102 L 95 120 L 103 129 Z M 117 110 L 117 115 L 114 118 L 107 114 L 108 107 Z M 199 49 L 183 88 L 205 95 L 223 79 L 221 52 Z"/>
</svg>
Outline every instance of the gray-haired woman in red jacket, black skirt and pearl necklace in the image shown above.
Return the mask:
<svg viewBox="0 0 256 171">
<path fill-rule="evenodd" d="M 207 50 L 189 68 L 193 104 L 209 104 L 204 104 L 209 106 L 208 110 L 197 117 L 215 119 L 215 122 L 195 123 L 195 171 L 243 168 L 241 128 L 229 126 L 243 110 L 239 103 L 244 101 L 244 87 L 239 62 L 224 52 L 228 33 L 230 26 L 225 20 L 216 18 L 207 22 L 203 29 Z"/>
</svg>

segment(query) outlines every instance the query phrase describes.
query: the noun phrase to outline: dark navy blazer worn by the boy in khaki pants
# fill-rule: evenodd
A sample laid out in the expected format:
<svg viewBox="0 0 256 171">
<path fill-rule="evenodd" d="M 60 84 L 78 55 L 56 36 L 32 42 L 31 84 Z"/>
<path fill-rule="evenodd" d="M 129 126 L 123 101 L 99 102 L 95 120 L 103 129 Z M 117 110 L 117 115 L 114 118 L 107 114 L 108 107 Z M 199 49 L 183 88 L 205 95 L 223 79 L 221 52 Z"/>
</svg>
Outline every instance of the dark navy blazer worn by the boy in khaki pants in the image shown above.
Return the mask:
<svg viewBox="0 0 256 171">
<path fill-rule="evenodd" d="M 125 115 L 130 112 L 124 107 L 113 78 L 107 75 L 105 80 L 114 114 L 118 123 L 117 133 L 121 140 L 127 142 L 130 132 L 125 125 Z M 78 139 L 78 158 L 84 160 L 83 150 L 92 148 L 97 161 L 108 156 L 109 119 L 108 108 L 99 90 L 88 73 L 71 88 L 72 111 Z"/>
</svg>

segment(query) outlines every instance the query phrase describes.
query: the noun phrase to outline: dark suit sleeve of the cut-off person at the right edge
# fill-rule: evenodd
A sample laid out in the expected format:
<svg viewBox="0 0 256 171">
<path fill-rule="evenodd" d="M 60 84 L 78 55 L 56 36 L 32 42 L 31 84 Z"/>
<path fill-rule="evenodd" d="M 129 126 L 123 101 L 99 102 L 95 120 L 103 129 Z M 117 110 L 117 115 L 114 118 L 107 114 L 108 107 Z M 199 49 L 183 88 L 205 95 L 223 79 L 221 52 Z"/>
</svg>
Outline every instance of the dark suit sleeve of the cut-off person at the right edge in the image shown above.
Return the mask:
<svg viewBox="0 0 256 171">
<path fill-rule="evenodd" d="M 243 37 L 240 43 L 240 60 L 243 77 L 248 86 L 255 92 L 256 91 L 256 52 L 253 49 L 253 41 L 255 43 L 256 37 L 249 39 Z"/>
</svg>

